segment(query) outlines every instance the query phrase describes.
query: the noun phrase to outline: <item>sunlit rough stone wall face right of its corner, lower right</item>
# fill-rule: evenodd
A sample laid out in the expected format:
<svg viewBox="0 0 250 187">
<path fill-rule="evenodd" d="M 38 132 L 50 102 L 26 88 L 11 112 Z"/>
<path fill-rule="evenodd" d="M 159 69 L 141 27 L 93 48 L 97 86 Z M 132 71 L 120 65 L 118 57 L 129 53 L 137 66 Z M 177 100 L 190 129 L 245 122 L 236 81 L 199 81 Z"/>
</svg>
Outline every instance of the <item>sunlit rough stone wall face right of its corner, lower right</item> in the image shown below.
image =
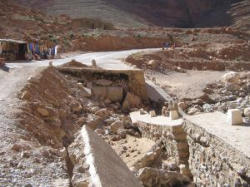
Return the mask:
<svg viewBox="0 0 250 187">
<path fill-rule="evenodd" d="M 185 121 L 184 131 L 189 166 L 198 186 L 250 185 L 250 158 L 189 121 Z"/>
</svg>

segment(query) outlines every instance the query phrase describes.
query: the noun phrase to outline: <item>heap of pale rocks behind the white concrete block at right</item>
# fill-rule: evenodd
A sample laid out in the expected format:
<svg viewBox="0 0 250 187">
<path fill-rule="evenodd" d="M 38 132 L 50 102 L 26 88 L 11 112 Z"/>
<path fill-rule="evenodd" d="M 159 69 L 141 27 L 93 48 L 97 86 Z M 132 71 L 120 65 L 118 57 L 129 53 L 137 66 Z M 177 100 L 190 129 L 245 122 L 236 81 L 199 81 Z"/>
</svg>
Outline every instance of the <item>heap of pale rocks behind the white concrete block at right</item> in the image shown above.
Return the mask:
<svg viewBox="0 0 250 187">
<path fill-rule="evenodd" d="M 250 74 L 249 72 L 229 72 L 221 81 L 207 85 L 203 90 L 204 96 L 194 100 L 184 99 L 182 109 L 188 114 L 199 112 L 221 111 L 240 109 L 246 121 L 249 121 L 248 110 L 250 107 Z"/>
</svg>

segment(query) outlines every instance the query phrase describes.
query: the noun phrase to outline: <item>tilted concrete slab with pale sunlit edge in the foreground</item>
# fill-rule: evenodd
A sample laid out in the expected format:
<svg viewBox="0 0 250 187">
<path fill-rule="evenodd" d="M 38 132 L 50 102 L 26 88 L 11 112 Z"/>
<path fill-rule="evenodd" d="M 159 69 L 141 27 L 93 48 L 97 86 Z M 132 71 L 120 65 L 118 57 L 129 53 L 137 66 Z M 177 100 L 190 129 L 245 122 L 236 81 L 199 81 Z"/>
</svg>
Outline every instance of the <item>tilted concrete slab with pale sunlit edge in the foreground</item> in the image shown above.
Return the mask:
<svg viewBox="0 0 250 187">
<path fill-rule="evenodd" d="M 90 186 L 143 187 L 115 151 L 94 131 L 84 126 L 81 136 L 86 162 L 90 166 Z"/>
</svg>

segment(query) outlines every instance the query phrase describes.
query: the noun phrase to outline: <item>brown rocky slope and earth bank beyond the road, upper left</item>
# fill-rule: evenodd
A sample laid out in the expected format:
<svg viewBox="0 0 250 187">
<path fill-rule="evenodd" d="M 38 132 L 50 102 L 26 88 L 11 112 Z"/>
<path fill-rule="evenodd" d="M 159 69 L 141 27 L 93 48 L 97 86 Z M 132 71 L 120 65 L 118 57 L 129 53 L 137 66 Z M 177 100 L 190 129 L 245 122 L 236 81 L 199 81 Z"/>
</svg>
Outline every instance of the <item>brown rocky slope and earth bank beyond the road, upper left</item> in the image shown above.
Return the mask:
<svg viewBox="0 0 250 187">
<path fill-rule="evenodd" d="M 52 16 L 19 5 L 0 0 L 0 38 L 59 44 L 62 51 L 104 51 L 159 47 L 167 37 L 160 38 L 154 32 L 119 31 L 101 19 Z"/>
</svg>

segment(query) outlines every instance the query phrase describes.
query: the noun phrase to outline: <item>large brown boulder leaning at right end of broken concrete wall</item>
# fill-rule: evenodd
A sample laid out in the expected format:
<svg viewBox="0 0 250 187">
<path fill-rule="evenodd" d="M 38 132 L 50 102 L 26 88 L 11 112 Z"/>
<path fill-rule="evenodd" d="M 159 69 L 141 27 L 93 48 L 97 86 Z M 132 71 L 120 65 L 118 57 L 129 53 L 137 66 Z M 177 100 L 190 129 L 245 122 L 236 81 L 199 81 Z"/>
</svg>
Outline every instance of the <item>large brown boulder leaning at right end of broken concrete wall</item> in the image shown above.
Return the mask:
<svg viewBox="0 0 250 187">
<path fill-rule="evenodd" d="M 122 104 L 122 109 L 130 110 L 131 108 L 138 108 L 140 105 L 141 99 L 138 96 L 128 92 Z"/>
</svg>

